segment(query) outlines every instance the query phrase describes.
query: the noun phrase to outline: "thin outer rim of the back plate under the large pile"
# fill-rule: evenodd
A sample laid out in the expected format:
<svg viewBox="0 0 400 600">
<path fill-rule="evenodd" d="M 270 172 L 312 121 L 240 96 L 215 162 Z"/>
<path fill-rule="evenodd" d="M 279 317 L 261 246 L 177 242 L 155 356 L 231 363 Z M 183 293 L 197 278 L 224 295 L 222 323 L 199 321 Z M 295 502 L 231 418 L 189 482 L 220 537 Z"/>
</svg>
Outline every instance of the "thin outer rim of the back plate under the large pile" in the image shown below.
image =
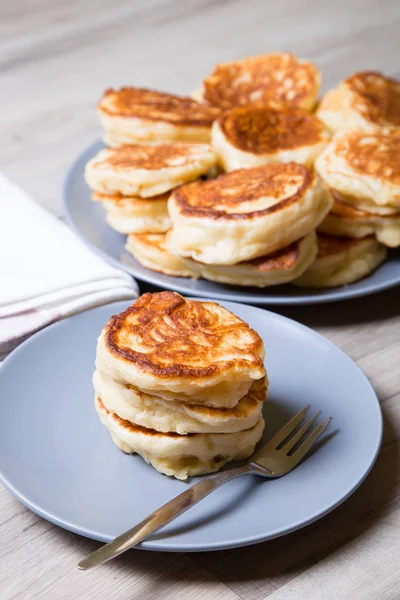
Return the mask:
<svg viewBox="0 0 400 600">
<path fill-rule="evenodd" d="M 82 150 L 79 155 L 75 158 L 75 160 L 70 164 L 67 173 L 64 177 L 63 188 L 62 188 L 62 208 L 63 208 L 63 216 L 65 222 L 68 224 L 70 229 L 74 232 L 74 234 L 88 247 L 92 252 L 94 252 L 97 256 L 105 260 L 111 266 L 122 269 L 126 273 L 129 273 L 132 277 L 135 277 L 139 281 L 143 281 L 150 285 L 155 285 L 158 287 L 165 287 L 164 283 L 160 283 L 158 280 L 159 274 L 157 271 L 150 271 L 150 269 L 146 269 L 149 272 L 142 274 L 137 273 L 136 269 L 132 268 L 130 265 L 124 264 L 123 262 L 114 259 L 107 252 L 98 248 L 95 244 L 87 239 L 87 237 L 79 230 L 78 225 L 75 223 L 71 211 L 69 208 L 70 204 L 70 194 L 68 193 L 70 186 L 72 185 L 72 181 L 74 179 L 75 171 L 79 170 L 80 165 L 83 160 L 86 160 L 86 155 L 94 150 L 100 143 L 103 143 L 100 138 L 96 141 L 89 144 L 84 150 Z M 143 267 L 145 268 L 145 267 Z M 166 275 L 164 275 L 166 276 Z M 187 277 L 181 278 L 183 281 L 186 281 Z M 217 283 L 217 282 L 215 282 Z M 214 300 L 222 300 L 225 302 L 238 302 L 238 303 L 254 303 L 263 306 L 267 305 L 279 305 L 279 306 L 300 306 L 300 305 L 308 305 L 308 304 L 327 304 L 329 302 L 340 302 L 344 300 L 352 300 L 353 298 L 361 298 L 364 296 L 370 296 L 372 294 L 383 292 L 385 290 L 397 287 L 400 285 L 400 277 L 396 280 L 390 280 L 381 282 L 379 285 L 370 284 L 362 289 L 352 289 L 353 284 L 348 284 L 345 286 L 340 286 L 339 288 L 325 288 L 327 291 L 324 295 L 319 296 L 318 294 L 312 295 L 307 294 L 304 296 L 269 296 L 264 293 L 264 290 L 268 290 L 269 288 L 260 288 L 260 296 L 258 295 L 249 295 L 249 298 L 244 298 L 241 296 L 241 292 L 235 291 L 224 291 L 221 292 L 213 292 L 212 295 Z M 181 294 L 187 294 L 190 297 L 201 296 L 202 299 L 208 298 L 209 291 L 205 290 L 191 290 L 188 289 L 188 286 L 185 286 L 183 283 L 180 285 L 171 281 L 171 285 L 168 286 L 171 290 L 179 292 Z M 245 292 L 246 287 L 243 290 Z M 233 296 L 237 295 L 237 300 L 233 299 Z"/>
</svg>

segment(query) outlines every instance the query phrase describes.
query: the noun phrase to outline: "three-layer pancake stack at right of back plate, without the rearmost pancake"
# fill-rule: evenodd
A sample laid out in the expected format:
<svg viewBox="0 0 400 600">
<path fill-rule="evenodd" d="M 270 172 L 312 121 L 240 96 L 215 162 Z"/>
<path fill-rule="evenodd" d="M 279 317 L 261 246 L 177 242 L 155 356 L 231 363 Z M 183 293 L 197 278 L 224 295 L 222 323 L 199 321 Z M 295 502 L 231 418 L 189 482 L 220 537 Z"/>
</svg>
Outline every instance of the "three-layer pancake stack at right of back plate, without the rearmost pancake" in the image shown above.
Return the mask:
<svg viewBox="0 0 400 600">
<path fill-rule="evenodd" d="M 334 203 L 319 226 L 317 260 L 297 283 L 351 283 L 400 246 L 400 130 L 338 133 L 316 168 Z"/>
</svg>

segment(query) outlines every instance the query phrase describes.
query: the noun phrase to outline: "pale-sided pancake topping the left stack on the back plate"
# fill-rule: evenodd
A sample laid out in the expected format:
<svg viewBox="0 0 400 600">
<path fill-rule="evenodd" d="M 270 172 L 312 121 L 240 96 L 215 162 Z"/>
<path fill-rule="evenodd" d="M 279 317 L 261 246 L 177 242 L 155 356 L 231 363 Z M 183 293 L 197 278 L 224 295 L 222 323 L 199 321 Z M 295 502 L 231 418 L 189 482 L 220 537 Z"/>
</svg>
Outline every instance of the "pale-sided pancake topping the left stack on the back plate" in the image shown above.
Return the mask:
<svg viewBox="0 0 400 600">
<path fill-rule="evenodd" d="M 87 163 L 85 178 L 100 194 L 149 198 L 197 179 L 215 163 L 208 144 L 135 144 L 101 150 Z"/>
</svg>

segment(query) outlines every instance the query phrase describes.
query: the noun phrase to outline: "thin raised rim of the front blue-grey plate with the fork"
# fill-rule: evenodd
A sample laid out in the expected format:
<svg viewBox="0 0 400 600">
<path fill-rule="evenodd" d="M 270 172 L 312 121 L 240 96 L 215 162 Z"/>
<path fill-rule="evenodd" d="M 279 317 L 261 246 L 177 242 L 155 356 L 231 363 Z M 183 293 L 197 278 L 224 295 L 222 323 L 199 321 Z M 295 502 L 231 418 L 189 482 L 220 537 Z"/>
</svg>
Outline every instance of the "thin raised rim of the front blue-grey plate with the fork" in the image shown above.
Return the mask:
<svg viewBox="0 0 400 600">
<path fill-rule="evenodd" d="M 203 298 L 197 298 L 197 299 L 204 301 Z M 214 301 L 212 299 L 211 300 L 206 299 L 206 301 L 207 300 L 210 302 Z M 307 333 L 308 335 L 311 334 L 312 337 L 322 340 L 324 343 L 328 344 L 328 346 L 333 347 L 335 349 L 335 351 L 338 351 L 347 361 L 349 361 L 352 364 L 352 367 L 355 368 L 358 371 L 359 375 L 362 377 L 362 379 L 364 379 L 370 392 L 372 392 L 372 396 L 374 398 L 374 406 L 375 406 L 375 410 L 377 413 L 376 416 L 378 417 L 377 427 L 379 429 L 376 446 L 374 448 L 373 453 L 371 454 L 371 456 L 369 458 L 369 461 L 368 461 L 367 467 L 365 468 L 365 471 L 359 476 L 357 481 L 355 483 L 351 484 L 349 486 L 349 488 L 343 494 L 341 494 L 338 499 L 336 499 L 334 502 L 332 502 L 330 504 L 328 503 L 322 511 L 317 511 L 317 512 L 313 513 L 312 515 L 310 515 L 310 517 L 308 519 L 305 519 L 304 521 L 301 521 L 301 522 L 299 521 L 299 522 L 295 523 L 294 525 L 288 526 L 286 528 L 272 531 L 270 534 L 267 534 L 267 535 L 253 535 L 253 536 L 244 537 L 244 538 L 241 538 L 241 540 L 239 542 L 231 542 L 231 541 L 230 542 L 213 542 L 213 543 L 208 543 L 208 544 L 203 543 L 203 544 L 194 544 L 194 545 L 181 543 L 178 546 L 176 544 L 171 546 L 168 543 L 169 539 L 172 539 L 172 540 L 174 539 L 174 536 L 171 536 L 171 537 L 167 537 L 166 541 L 163 541 L 163 540 L 155 540 L 153 542 L 151 540 L 144 541 L 143 543 L 139 544 L 135 549 L 149 550 L 149 551 L 156 551 L 156 552 L 206 552 L 206 551 L 214 551 L 214 550 L 227 550 L 227 549 L 232 549 L 232 548 L 240 548 L 243 546 L 249 546 L 249 545 L 253 545 L 253 544 L 257 544 L 257 543 L 262 543 L 262 542 L 266 542 L 271 539 L 275 539 L 278 537 L 282 537 L 284 535 L 288 535 L 290 533 L 293 533 L 293 532 L 295 532 L 303 527 L 306 527 L 307 525 L 310 525 L 311 523 L 314 523 L 315 521 L 321 519 L 328 513 L 335 510 L 335 508 L 340 506 L 343 502 L 345 502 L 364 482 L 364 480 L 370 473 L 371 469 L 373 468 L 373 466 L 376 462 L 376 459 L 379 455 L 381 445 L 382 445 L 382 438 L 383 438 L 383 414 L 382 414 L 381 405 L 380 405 L 378 396 L 377 396 L 371 382 L 369 381 L 368 377 L 365 375 L 364 371 L 357 365 L 357 363 L 348 354 L 346 354 L 341 348 L 339 348 L 336 344 L 334 344 L 331 340 L 329 340 L 322 334 L 318 333 L 317 331 L 311 329 L 310 327 L 308 327 L 306 325 L 303 325 L 302 323 L 299 323 L 298 321 L 295 321 L 294 319 L 291 319 L 284 315 L 280 315 L 279 313 L 275 313 L 275 312 L 267 310 L 265 308 L 259 308 L 256 306 L 246 305 L 246 304 L 240 303 L 240 302 L 233 302 L 233 301 L 224 301 L 224 302 L 226 304 L 239 304 L 239 305 L 245 307 L 246 309 L 250 309 L 251 311 L 256 311 L 256 312 L 261 311 L 262 313 L 267 313 L 267 318 L 274 318 L 278 322 L 282 321 L 282 320 L 284 322 L 288 322 L 290 326 L 294 326 L 295 328 L 300 329 L 301 331 Z M 98 306 L 95 308 L 90 308 L 90 309 L 87 309 L 80 313 L 77 313 L 75 315 L 72 315 L 70 317 L 67 317 L 65 319 L 61 319 L 60 321 L 52 323 L 52 324 L 48 325 L 47 327 L 44 327 L 40 331 L 36 332 L 31 337 L 29 337 L 27 340 L 22 342 L 17 348 L 15 348 L 4 359 L 4 361 L 0 367 L 0 380 L 2 377 L 4 365 L 7 365 L 8 362 L 15 360 L 16 359 L 15 357 L 18 356 L 18 354 L 26 346 L 34 344 L 35 340 L 42 335 L 46 335 L 48 330 L 53 330 L 60 326 L 68 326 L 68 322 L 71 319 L 81 317 L 82 315 L 84 315 L 87 312 L 98 311 L 98 310 L 103 309 L 104 307 L 111 308 L 112 306 L 117 306 L 117 305 L 121 306 L 121 304 L 123 304 L 123 303 L 126 303 L 126 301 L 122 300 L 122 301 L 117 301 L 117 302 L 111 302 L 106 305 L 101 305 L 101 306 Z M 228 307 L 228 310 L 231 310 L 231 309 Z M 63 529 L 72 531 L 73 533 L 76 533 L 83 537 L 87 537 L 89 539 L 94 539 L 94 540 L 102 541 L 102 542 L 108 542 L 113 539 L 111 536 L 101 536 L 98 534 L 98 532 L 95 532 L 93 530 L 82 529 L 81 527 L 78 527 L 77 525 L 75 525 L 73 523 L 70 523 L 63 519 L 60 519 L 59 517 L 57 517 L 56 515 L 54 515 L 52 513 L 46 512 L 43 508 L 36 505 L 34 502 L 31 502 L 29 500 L 29 498 L 23 492 L 21 492 L 19 489 L 14 487 L 14 485 L 8 480 L 8 478 L 3 475 L 1 465 L 0 465 L 0 482 L 24 506 L 29 508 L 32 512 L 39 515 L 40 517 L 46 519 L 47 521 L 49 521 Z"/>
</svg>

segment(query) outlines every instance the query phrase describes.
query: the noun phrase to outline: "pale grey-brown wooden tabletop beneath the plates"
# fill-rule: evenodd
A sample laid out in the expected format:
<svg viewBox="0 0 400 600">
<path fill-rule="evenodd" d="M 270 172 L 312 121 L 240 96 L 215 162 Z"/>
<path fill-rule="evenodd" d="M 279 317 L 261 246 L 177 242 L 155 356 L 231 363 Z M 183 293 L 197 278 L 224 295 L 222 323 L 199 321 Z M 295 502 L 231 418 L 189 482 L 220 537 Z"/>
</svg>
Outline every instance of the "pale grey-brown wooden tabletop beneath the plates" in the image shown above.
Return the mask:
<svg viewBox="0 0 400 600">
<path fill-rule="evenodd" d="M 136 84 L 185 93 L 217 60 L 280 49 L 314 60 L 325 89 L 356 69 L 400 75 L 399 26 L 398 0 L 2 2 L 0 170 L 61 216 L 65 171 L 99 136 L 94 105 L 104 88 Z M 40 519 L 1 489 L 2 600 L 400 598 L 399 307 L 395 289 L 278 309 L 355 359 L 382 403 L 378 461 L 332 514 L 249 548 L 132 551 L 79 572 L 79 559 L 98 544 Z"/>
</svg>

